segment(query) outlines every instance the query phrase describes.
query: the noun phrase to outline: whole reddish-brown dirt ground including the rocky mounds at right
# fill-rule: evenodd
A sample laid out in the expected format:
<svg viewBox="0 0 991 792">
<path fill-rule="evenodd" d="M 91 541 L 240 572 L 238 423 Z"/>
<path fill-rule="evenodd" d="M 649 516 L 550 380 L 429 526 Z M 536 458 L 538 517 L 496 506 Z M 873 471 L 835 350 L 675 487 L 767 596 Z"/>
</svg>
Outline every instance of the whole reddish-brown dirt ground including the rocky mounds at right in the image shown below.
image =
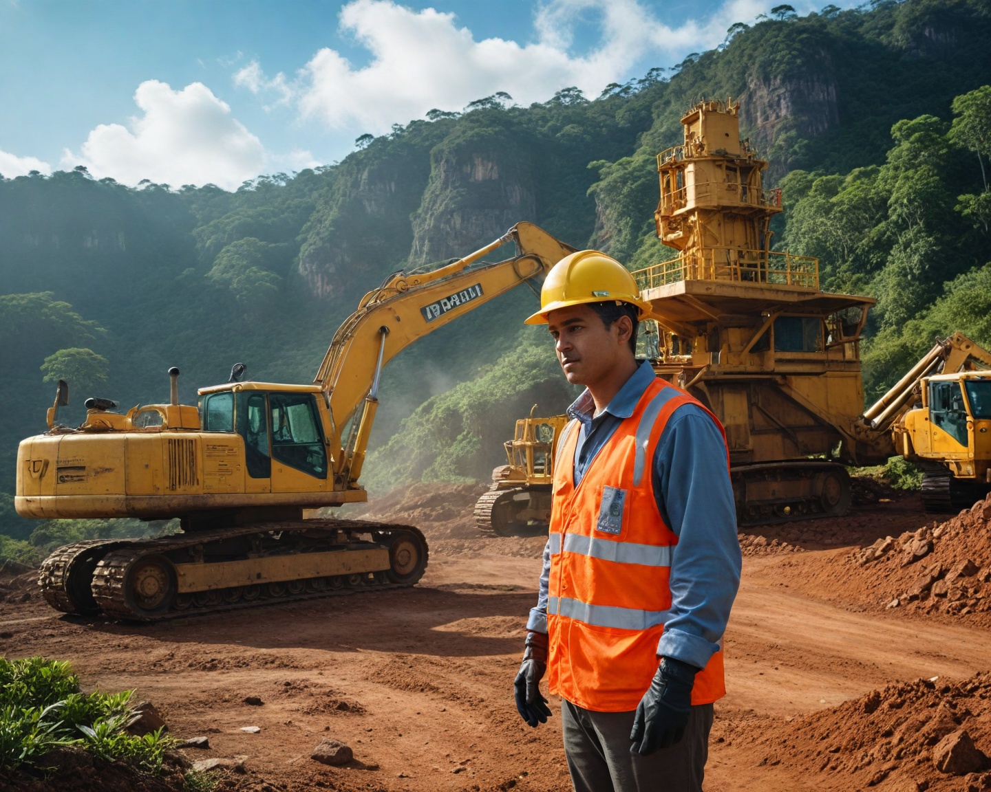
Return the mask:
<svg viewBox="0 0 991 792">
<path fill-rule="evenodd" d="M 531 730 L 511 695 L 544 540 L 480 536 L 483 489 L 364 510 L 424 530 L 413 589 L 133 626 L 59 616 L 33 575 L 0 576 L 0 652 L 136 688 L 173 734 L 208 738 L 190 758 L 237 757 L 221 789 L 564 792 L 559 719 Z M 707 789 L 991 789 L 989 522 L 991 502 L 946 521 L 858 480 L 847 517 L 742 533 Z M 325 738 L 353 759 L 311 759 Z"/>
</svg>

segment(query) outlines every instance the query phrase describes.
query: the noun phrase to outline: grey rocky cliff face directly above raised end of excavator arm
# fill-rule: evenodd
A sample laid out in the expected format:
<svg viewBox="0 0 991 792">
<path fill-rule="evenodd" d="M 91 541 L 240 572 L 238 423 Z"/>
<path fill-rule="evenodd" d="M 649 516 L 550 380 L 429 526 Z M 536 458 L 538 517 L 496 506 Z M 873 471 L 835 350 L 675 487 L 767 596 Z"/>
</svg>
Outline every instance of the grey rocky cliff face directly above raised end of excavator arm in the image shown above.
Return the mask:
<svg viewBox="0 0 991 792">
<path fill-rule="evenodd" d="M 528 164 L 506 141 L 435 149 L 430 182 L 413 216 L 409 265 L 465 255 L 514 223 L 534 220 Z"/>
</svg>

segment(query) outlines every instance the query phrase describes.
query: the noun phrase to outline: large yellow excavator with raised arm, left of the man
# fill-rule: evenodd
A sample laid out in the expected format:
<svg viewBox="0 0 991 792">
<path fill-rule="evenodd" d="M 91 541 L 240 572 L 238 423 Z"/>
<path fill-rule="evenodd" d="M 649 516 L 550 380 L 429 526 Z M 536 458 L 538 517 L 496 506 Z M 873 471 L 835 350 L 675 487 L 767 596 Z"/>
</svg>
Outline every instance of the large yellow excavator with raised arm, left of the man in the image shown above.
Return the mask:
<svg viewBox="0 0 991 792">
<path fill-rule="evenodd" d="M 484 256 L 514 243 L 515 255 Z M 42 565 L 47 601 L 65 613 L 152 621 L 261 600 L 409 586 L 427 564 L 411 526 L 304 519 L 303 510 L 367 500 L 358 482 L 382 368 L 404 347 L 574 251 L 529 223 L 429 272 L 396 273 L 338 329 L 313 384 L 230 381 L 178 403 L 114 412 L 87 399 L 76 429 L 57 423 L 18 448 L 15 506 L 29 518 L 178 518 L 181 533 L 57 549 Z"/>
</svg>

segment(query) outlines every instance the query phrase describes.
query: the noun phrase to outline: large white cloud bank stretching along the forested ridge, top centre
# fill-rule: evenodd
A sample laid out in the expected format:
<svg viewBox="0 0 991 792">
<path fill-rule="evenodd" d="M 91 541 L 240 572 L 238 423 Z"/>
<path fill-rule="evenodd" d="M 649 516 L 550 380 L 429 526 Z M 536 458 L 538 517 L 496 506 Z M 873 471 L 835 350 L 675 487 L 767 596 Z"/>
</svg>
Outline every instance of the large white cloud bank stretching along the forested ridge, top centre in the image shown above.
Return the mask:
<svg viewBox="0 0 991 792">
<path fill-rule="evenodd" d="M 281 72 L 267 77 L 257 61 L 234 79 L 253 93 L 275 94 L 276 104 L 294 101 L 303 118 L 318 119 L 329 129 L 381 134 L 396 121 L 421 117 L 434 107 L 460 110 L 496 91 L 520 104 L 544 101 L 571 85 L 594 97 L 645 60 L 670 64 L 716 47 L 732 23 L 751 22 L 772 5 L 725 0 L 705 20 L 672 28 L 640 0 L 549 0 L 535 15 L 536 40 L 521 46 L 495 38 L 476 41 L 470 30 L 457 26 L 454 14 L 433 8 L 353 0 L 341 9 L 339 28 L 370 52 L 367 65 L 356 67 L 325 48 L 291 80 Z M 815 7 L 812 0 L 794 5 L 799 13 Z M 576 26 L 590 19 L 600 32 L 598 45 L 571 54 Z"/>
</svg>

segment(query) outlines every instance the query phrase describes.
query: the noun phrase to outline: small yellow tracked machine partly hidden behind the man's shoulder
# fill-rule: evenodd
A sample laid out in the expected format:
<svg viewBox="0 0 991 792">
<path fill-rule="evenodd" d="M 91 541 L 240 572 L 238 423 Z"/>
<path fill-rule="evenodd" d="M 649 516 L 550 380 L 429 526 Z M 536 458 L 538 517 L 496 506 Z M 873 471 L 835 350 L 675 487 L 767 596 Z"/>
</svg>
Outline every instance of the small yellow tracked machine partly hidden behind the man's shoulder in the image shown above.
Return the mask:
<svg viewBox="0 0 991 792">
<path fill-rule="evenodd" d="M 546 530 L 551 519 L 554 453 L 567 416 L 516 422 L 516 433 L 505 443 L 508 464 L 493 470 L 493 484 L 475 504 L 475 524 L 500 537 Z"/>
</svg>

